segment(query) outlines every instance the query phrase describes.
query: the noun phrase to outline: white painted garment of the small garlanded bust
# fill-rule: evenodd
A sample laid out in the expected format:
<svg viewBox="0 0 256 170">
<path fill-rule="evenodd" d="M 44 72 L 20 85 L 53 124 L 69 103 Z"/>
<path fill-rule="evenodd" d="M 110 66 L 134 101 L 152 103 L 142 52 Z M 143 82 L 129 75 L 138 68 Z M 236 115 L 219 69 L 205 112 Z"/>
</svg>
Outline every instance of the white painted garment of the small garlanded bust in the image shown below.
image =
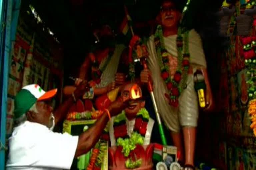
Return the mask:
<svg viewBox="0 0 256 170">
<path fill-rule="evenodd" d="M 115 116 L 111 118 L 110 127 L 109 127 L 109 137 L 110 137 L 110 141 L 111 141 L 111 146 L 116 146 L 116 139 L 115 139 L 115 135 L 114 135 L 114 120 L 115 120 Z M 153 119 L 149 118 L 143 145 L 150 144 L 151 132 L 152 132 L 154 123 L 155 123 L 155 121 Z M 130 120 L 130 121 L 128 119 L 126 119 L 127 134 L 130 137 L 133 132 L 134 125 L 135 125 L 135 119 Z"/>
</svg>

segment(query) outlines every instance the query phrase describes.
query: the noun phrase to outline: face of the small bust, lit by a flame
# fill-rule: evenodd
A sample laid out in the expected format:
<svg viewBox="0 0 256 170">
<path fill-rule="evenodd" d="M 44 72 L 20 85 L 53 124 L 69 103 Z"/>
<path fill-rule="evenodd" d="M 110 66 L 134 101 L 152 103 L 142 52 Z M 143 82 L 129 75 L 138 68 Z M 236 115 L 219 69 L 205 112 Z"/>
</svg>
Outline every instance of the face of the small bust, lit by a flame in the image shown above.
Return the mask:
<svg viewBox="0 0 256 170">
<path fill-rule="evenodd" d="M 128 84 L 121 92 L 123 101 L 128 101 L 129 107 L 125 109 L 127 118 L 135 118 L 141 108 L 145 106 L 142 98 L 140 86 L 137 84 Z"/>
</svg>

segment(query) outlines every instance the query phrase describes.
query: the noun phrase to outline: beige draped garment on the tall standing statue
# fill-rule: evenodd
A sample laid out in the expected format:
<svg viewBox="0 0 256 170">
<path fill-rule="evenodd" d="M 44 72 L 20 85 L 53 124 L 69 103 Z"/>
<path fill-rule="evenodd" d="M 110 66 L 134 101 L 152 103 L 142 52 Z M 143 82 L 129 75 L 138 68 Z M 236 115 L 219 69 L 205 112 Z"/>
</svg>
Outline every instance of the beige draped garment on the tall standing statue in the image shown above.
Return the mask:
<svg viewBox="0 0 256 170">
<path fill-rule="evenodd" d="M 177 57 L 176 46 L 177 35 L 164 37 L 164 44 L 166 50 L 174 57 Z M 179 107 L 173 108 L 169 105 L 165 97 L 165 93 L 169 94 L 164 80 L 161 77 L 161 70 L 159 66 L 158 56 L 154 44 L 154 35 L 150 37 L 148 42 L 148 67 L 152 72 L 152 79 L 154 82 L 154 95 L 156 103 L 165 125 L 174 132 L 178 132 L 181 126 L 197 126 L 198 120 L 198 97 L 194 90 L 193 75 L 188 75 L 187 88 L 179 97 Z M 202 42 L 199 34 L 195 30 L 189 32 L 189 53 L 190 63 L 195 72 L 196 66 L 206 67 L 206 60 L 202 47 Z"/>
</svg>

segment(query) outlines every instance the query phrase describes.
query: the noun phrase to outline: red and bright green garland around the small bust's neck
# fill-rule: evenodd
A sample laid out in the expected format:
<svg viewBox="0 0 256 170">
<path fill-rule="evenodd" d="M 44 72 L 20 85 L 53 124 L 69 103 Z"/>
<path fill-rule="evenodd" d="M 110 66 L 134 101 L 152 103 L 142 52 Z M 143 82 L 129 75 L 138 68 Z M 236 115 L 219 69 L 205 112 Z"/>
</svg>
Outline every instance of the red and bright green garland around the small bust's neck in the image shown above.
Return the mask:
<svg viewBox="0 0 256 170">
<path fill-rule="evenodd" d="M 114 119 L 114 136 L 117 146 L 122 146 L 122 153 L 124 153 L 125 157 L 129 157 L 125 162 L 126 168 L 134 169 L 142 164 L 141 159 L 132 160 L 130 152 L 136 148 L 136 145 L 143 145 L 148 121 L 148 111 L 145 108 L 140 109 L 136 115 L 134 131 L 129 137 L 127 134 L 125 112 L 123 111 Z"/>
</svg>

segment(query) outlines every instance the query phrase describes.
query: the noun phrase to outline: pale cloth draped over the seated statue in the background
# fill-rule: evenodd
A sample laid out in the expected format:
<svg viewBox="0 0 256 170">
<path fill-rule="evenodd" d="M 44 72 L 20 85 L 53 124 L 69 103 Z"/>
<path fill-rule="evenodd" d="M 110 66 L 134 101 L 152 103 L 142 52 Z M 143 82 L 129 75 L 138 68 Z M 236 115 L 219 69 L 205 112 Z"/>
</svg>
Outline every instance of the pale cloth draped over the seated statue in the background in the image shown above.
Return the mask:
<svg viewBox="0 0 256 170">
<path fill-rule="evenodd" d="M 115 51 L 113 53 L 113 56 L 111 57 L 108 65 L 106 66 L 105 70 L 101 74 L 101 82 L 96 85 L 97 87 L 106 87 L 108 84 L 112 83 L 115 80 L 115 74 L 118 69 L 120 56 L 124 49 L 125 49 L 125 46 L 122 44 L 118 44 L 115 46 Z M 106 60 L 107 60 L 107 57 L 105 57 L 101 61 L 99 68 L 102 68 Z"/>
</svg>

